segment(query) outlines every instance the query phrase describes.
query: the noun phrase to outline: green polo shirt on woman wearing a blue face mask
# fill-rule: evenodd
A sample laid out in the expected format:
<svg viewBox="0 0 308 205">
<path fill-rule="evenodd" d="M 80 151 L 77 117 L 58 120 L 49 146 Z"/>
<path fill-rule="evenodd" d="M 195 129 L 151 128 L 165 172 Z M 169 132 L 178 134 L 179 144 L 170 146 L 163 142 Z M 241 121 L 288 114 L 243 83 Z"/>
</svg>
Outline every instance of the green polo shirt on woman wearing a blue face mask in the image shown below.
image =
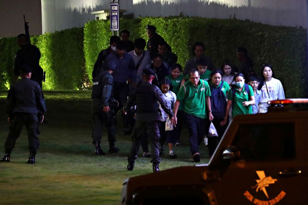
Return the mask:
<svg viewBox="0 0 308 205">
<path fill-rule="evenodd" d="M 243 102 L 249 101 L 251 96 L 254 96 L 253 89 L 250 85 L 248 85 L 249 93 L 246 92 L 244 85 L 242 92 L 238 91 L 238 88 L 235 88 L 235 95 L 233 99 L 232 89 L 228 94 L 228 100 L 232 100 L 232 117 L 236 115 L 243 115 L 243 114 L 253 114 L 252 106 L 243 106 Z"/>
</svg>

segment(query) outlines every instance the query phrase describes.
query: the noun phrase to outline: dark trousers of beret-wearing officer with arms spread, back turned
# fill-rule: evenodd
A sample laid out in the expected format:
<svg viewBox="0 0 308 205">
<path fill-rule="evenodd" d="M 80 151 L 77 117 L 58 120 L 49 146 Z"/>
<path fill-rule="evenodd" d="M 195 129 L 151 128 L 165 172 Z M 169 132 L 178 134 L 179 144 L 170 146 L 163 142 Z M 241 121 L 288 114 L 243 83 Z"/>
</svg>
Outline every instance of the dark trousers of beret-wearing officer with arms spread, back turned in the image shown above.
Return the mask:
<svg viewBox="0 0 308 205">
<path fill-rule="evenodd" d="M 153 164 L 158 164 L 161 162 L 161 158 L 159 157 L 159 123 L 160 121 L 142 121 L 138 119 L 136 120 L 133 132 L 133 145 L 128 156 L 128 160 L 130 162 L 137 159 L 139 147 L 144 132 L 147 132 L 147 136 L 149 137 L 151 142 L 151 155 L 153 157 L 151 162 Z"/>
</svg>

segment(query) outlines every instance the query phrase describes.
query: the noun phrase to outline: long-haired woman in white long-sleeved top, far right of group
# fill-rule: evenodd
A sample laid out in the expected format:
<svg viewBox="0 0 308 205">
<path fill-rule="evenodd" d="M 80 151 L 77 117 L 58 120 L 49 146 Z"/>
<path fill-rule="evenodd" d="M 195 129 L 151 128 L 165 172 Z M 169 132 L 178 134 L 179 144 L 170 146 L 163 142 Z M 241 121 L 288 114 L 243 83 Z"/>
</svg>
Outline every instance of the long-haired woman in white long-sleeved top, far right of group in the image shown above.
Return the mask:
<svg viewBox="0 0 308 205">
<path fill-rule="evenodd" d="M 260 81 L 258 90 L 261 90 L 261 98 L 259 112 L 266 113 L 270 100 L 284 99 L 284 91 L 281 82 L 274 78 L 274 71 L 270 64 L 262 66 L 262 80 Z"/>
</svg>

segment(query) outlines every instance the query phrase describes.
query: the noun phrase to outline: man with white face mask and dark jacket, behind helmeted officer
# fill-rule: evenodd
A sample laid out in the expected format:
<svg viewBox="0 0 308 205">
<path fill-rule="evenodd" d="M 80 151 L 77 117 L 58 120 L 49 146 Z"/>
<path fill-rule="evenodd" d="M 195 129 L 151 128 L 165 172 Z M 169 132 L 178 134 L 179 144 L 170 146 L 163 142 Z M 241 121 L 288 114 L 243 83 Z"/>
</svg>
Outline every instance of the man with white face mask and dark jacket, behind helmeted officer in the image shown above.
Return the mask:
<svg viewBox="0 0 308 205">
<path fill-rule="evenodd" d="M 93 67 L 92 77 L 95 78 L 96 76 L 100 75 L 102 71 L 102 64 L 107 56 L 116 51 L 116 44 L 120 41 L 118 36 L 111 36 L 109 47 L 101 50 L 101 52 L 97 56 L 97 60 Z"/>
</svg>

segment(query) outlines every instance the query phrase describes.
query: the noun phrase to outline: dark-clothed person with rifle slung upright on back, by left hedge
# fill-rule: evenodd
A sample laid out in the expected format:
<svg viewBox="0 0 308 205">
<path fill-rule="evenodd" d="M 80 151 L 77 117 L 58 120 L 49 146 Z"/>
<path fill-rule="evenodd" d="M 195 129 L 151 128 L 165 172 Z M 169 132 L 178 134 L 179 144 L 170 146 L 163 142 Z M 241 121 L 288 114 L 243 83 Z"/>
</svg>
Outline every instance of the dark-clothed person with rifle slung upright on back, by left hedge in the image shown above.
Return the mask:
<svg viewBox="0 0 308 205">
<path fill-rule="evenodd" d="M 15 74 L 14 82 L 18 80 L 21 65 L 28 65 L 32 70 L 31 80 L 36 81 L 38 85 L 42 88 L 43 69 L 39 65 L 41 52 L 39 51 L 38 47 L 28 43 L 27 37 L 23 33 L 17 36 L 17 44 L 20 49 L 17 51 L 15 57 L 15 65 L 13 71 Z"/>
</svg>

